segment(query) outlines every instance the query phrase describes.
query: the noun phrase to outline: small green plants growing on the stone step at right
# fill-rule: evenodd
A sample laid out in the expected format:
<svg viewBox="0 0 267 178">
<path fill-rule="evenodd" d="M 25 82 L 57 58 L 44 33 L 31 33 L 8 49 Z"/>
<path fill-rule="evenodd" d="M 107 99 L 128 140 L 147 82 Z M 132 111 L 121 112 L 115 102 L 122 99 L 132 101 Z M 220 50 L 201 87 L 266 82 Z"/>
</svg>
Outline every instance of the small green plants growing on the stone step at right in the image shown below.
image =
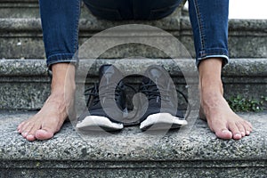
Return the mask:
<svg viewBox="0 0 267 178">
<path fill-rule="evenodd" d="M 228 103 L 234 111 L 263 111 L 264 103 L 267 101 L 267 96 L 261 96 L 260 99 L 245 98 L 241 95 L 231 96 Z"/>
</svg>

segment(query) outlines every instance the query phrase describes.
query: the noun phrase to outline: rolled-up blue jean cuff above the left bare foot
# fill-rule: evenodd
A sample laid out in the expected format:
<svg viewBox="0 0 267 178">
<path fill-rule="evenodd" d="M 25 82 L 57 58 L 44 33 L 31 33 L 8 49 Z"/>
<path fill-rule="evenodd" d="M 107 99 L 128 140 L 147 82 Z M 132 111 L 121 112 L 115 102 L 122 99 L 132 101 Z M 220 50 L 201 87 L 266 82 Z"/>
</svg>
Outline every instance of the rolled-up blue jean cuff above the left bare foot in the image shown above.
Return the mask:
<svg viewBox="0 0 267 178">
<path fill-rule="evenodd" d="M 48 69 L 51 69 L 51 66 L 56 63 L 71 63 L 77 68 L 78 58 L 74 53 L 53 54 L 47 58 L 46 65 Z"/>
</svg>

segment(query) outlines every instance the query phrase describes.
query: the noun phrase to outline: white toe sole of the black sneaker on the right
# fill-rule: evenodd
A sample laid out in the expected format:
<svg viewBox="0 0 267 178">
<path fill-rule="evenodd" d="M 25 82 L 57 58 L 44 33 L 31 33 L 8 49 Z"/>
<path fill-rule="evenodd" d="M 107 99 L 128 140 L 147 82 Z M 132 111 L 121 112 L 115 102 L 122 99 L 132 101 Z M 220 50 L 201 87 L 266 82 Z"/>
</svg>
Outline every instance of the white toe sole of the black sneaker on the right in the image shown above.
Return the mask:
<svg viewBox="0 0 267 178">
<path fill-rule="evenodd" d="M 179 117 L 174 117 L 169 113 L 157 113 L 152 114 L 142 121 L 140 129 L 144 130 L 165 130 L 180 128 L 183 125 L 187 125 L 187 121 Z"/>
</svg>

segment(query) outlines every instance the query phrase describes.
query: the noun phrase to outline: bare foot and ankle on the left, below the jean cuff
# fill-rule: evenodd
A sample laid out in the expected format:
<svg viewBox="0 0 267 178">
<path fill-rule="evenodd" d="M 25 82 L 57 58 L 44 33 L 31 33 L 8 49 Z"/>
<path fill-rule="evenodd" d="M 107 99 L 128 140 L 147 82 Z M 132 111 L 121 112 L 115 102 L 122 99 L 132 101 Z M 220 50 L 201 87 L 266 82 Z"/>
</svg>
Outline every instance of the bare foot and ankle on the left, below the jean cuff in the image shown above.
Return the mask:
<svg viewBox="0 0 267 178">
<path fill-rule="evenodd" d="M 68 117 L 75 92 L 75 67 L 70 65 L 67 63 L 53 65 L 51 95 L 34 117 L 28 118 L 18 126 L 18 132 L 28 141 L 52 138 L 60 131 L 61 125 Z M 67 72 L 68 69 L 70 72 Z"/>
</svg>

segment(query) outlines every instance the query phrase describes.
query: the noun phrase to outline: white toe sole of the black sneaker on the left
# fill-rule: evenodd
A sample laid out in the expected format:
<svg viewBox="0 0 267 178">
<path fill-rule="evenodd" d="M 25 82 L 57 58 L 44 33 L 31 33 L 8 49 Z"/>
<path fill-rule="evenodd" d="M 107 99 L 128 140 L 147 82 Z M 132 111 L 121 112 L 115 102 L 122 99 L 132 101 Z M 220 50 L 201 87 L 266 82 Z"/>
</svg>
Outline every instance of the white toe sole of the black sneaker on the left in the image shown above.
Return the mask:
<svg viewBox="0 0 267 178">
<path fill-rule="evenodd" d="M 85 131 L 117 131 L 123 129 L 124 125 L 111 122 L 107 117 L 87 116 L 76 127 Z"/>
</svg>

